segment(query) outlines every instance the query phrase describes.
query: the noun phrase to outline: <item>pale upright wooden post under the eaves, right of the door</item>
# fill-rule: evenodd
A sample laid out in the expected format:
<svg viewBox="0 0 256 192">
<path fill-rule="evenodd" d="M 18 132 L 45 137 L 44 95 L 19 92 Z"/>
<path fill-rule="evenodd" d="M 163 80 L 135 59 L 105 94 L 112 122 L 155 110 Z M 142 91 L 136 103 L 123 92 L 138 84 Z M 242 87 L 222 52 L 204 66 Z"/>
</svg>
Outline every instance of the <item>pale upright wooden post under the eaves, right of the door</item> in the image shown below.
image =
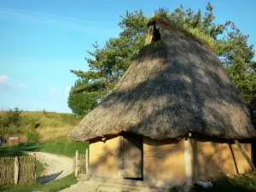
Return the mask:
<svg viewBox="0 0 256 192">
<path fill-rule="evenodd" d="M 185 170 L 186 170 L 186 179 L 185 184 L 192 185 L 192 146 L 189 141 L 189 138 L 185 138 Z"/>
</svg>

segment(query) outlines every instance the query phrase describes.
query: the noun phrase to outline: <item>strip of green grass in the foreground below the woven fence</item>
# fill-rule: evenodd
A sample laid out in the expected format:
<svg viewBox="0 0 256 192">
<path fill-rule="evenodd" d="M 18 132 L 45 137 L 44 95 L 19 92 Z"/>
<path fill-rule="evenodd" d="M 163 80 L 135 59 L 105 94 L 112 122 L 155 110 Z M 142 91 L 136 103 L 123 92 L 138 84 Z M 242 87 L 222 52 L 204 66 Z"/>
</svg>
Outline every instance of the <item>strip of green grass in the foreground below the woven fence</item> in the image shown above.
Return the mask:
<svg viewBox="0 0 256 192">
<path fill-rule="evenodd" d="M 77 178 L 74 175 L 60 178 L 58 180 L 42 184 L 42 183 L 27 183 L 16 186 L 3 186 L 0 187 L 0 191 L 4 192 L 32 192 L 32 191 L 47 191 L 55 192 L 61 189 L 66 189 L 70 185 L 77 183 Z"/>
</svg>

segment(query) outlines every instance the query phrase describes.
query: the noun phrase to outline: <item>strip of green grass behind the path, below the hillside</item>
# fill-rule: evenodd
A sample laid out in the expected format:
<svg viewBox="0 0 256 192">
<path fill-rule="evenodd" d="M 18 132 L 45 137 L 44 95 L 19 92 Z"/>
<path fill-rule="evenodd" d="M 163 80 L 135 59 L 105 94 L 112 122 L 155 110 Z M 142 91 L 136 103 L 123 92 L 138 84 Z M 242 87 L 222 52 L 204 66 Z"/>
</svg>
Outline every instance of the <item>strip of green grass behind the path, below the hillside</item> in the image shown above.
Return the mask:
<svg viewBox="0 0 256 192">
<path fill-rule="evenodd" d="M 8 155 L 15 151 L 15 153 L 20 153 L 19 151 L 42 151 L 51 154 L 62 154 L 68 157 L 73 157 L 75 155 L 76 149 L 79 150 L 79 154 L 84 154 L 85 149 L 88 148 L 88 142 L 73 142 L 68 139 L 57 139 L 55 141 L 44 141 L 35 143 L 21 143 L 20 145 L 12 147 L 0 147 L 0 154 Z"/>
</svg>

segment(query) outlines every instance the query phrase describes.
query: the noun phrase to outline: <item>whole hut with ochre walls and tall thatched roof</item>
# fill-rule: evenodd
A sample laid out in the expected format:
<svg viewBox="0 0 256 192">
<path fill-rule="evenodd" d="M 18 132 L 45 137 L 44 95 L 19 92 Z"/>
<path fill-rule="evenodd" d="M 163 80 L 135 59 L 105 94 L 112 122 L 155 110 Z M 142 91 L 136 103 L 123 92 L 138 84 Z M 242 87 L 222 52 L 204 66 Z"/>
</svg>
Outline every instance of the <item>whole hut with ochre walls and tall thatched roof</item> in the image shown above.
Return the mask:
<svg viewBox="0 0 256 192">
<path fill-rule="evenodd" d="M 69 133 L 90 141 L 90 174 L 166 185 L 250 169 L 256 131 L 218 55 L 166 19 L 150 20 L 146 42 Z"/>
</svg>

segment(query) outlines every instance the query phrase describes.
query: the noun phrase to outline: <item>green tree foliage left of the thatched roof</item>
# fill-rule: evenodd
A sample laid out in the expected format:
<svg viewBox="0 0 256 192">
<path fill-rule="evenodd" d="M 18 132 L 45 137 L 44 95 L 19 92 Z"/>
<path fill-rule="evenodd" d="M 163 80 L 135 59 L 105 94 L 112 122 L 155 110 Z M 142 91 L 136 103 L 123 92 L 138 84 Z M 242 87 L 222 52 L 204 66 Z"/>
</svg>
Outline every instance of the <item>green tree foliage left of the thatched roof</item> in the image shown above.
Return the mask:
<svg viewBox="0 0 256 192">
<path fill-rule="evenodd" d="M 94 51 L 87 50 L 90 57 L 86 57 L 90 70 L 88 72 L 71 70 L 78 76 L 68 97 L 68 107 L 73 113 L 85 115 L 101 102 L 143 47 L 148 18 L 143 11 L 126 12 L 120 16 L 119 26 L 122 32 L 118 38 L 110 38 L 104 48 L 93 44 Z"/>
</svg>

